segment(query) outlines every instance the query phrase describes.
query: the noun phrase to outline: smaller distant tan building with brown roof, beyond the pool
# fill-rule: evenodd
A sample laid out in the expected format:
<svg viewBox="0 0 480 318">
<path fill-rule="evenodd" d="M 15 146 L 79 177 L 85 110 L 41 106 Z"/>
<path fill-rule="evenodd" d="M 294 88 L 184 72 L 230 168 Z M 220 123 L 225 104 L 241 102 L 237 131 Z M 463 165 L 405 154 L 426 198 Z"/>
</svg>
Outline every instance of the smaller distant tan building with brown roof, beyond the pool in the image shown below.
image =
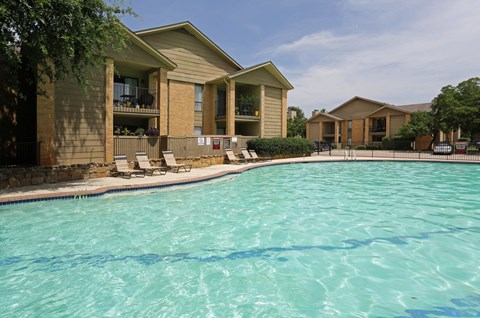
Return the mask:
<svg viewBox="0 0 480 318">
<path fill-rule="evenodd" d="M 313 114 L 307 120 L 307 139 L 338 147 L 381 143 L 382 138 L 395 136 L 412 112 L 429 111 L 430 105 L 394 106 L 355 96 L 328 113 Z"/>
</svg>

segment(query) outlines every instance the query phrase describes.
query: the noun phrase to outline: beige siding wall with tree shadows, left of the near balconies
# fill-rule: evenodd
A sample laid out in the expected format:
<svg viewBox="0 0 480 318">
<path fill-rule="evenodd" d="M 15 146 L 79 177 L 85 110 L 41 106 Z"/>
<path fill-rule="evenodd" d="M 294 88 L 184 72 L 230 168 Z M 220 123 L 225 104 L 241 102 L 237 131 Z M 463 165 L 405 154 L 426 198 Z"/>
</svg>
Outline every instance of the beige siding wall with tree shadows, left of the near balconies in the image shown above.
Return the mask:
<svg viewBox="0 0 480 318">
<path fill-rule="evenodd" d="M 75 80 L 55 84 L 58 164 L 103 162 L 105 158 L 105 73 L 90 77 L 87 93 Z M 113 133 L 113 132 L 111 132 Z"/>
</svg>

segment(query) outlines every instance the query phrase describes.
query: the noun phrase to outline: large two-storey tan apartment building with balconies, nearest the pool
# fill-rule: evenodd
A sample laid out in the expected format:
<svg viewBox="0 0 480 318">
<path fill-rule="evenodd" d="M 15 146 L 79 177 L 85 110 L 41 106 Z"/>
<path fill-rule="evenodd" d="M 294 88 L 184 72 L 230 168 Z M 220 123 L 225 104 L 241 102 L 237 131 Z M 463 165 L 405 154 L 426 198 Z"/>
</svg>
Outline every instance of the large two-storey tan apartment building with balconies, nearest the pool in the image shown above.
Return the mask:
<svg viewBox="0 0 480 318">
<path fill-rule="evenodd" d="M 272 62 L 243 68 L 190 22 L 132 32 L 121 53 L 37 98 L 40 164 L 112 161 L 114 135 L 286 137 L 293 86 Z"/>
</svg>

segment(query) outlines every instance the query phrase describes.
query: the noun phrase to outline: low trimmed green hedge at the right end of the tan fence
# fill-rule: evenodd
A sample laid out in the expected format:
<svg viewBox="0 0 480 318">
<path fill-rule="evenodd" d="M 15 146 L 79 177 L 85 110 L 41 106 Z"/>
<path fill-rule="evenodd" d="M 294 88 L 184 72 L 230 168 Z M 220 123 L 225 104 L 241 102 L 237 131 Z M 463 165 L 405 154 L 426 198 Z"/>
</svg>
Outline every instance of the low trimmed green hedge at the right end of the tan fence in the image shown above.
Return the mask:
<svg viewBox="0 0 480 318">
<path fill-rule="evenodd" d="M 303 138 L 256 138 L 247 141 L 248 149 L 259 155 L 301 155 L 315 151 L 313 141 Z"/>
</svg>

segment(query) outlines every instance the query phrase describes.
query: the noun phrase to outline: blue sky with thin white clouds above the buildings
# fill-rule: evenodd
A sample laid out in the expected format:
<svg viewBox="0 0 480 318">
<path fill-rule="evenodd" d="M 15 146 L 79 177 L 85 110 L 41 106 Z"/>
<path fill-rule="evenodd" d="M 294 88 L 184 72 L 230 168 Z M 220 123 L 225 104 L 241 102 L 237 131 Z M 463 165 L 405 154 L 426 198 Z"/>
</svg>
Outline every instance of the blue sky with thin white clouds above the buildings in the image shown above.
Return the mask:
<svg viewBox="0 0 480 318">
<path fill-rule="evenodd" d="M 243 67 L 272 61 L 306 117 L 354 96 L 431 102 L 480 77 L 480 0 L 137 0 L 133 31 L 190 21 Z"/>
</svg>

